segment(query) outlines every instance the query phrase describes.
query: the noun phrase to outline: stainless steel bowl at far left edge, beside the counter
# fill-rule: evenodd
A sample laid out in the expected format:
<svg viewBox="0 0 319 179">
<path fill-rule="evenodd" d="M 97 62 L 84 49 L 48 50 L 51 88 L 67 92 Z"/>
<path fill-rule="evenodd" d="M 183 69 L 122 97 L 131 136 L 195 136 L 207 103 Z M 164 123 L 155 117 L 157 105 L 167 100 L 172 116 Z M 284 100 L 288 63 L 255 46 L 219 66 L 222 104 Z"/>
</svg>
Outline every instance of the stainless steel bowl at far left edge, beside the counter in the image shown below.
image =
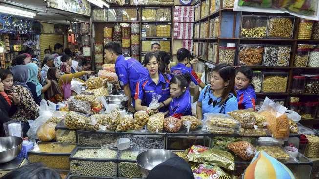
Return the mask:
<svg viewBox="0 0 319 179">
<path fill-rule="evenodd" d="M 0 137 L 0 163 L 6 163 L 13 160 L 21 151 L 21 137 Z"/>
</svg>

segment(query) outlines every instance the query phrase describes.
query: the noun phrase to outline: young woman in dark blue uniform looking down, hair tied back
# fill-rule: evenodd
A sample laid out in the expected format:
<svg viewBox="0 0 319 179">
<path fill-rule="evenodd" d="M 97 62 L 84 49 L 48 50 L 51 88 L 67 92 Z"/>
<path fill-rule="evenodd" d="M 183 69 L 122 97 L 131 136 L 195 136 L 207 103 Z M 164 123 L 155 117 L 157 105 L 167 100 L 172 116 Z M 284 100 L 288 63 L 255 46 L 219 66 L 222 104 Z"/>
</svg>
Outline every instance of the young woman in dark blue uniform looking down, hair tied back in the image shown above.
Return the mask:
<svg viewBox="0 0 319 179">
<path fill-rule="evenodd" d="M 169 106 L 169 116 L 178 119 L 191 115 L 191 95 L 187 90 L 191 81 L 188 74 L 176 75 L 170 80 L 170 96 L 173 98 Z"/>
</svg>

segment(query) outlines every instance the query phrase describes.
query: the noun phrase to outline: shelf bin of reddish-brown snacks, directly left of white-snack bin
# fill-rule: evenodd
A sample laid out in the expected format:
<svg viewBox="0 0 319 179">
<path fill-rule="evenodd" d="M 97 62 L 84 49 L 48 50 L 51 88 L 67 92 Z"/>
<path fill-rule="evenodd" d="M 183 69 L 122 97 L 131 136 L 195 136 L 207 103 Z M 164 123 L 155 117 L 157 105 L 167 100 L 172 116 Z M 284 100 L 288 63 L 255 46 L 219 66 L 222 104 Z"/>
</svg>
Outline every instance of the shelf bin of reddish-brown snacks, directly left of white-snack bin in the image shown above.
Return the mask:
<svg viewBox="0 0 319 179">
<path fill-rule="evenodd" d="M 238 64 L 244 66 L 260 66 L 263 61 L 263 56 L 263 45 L 240 45 Z"/>
</svg>

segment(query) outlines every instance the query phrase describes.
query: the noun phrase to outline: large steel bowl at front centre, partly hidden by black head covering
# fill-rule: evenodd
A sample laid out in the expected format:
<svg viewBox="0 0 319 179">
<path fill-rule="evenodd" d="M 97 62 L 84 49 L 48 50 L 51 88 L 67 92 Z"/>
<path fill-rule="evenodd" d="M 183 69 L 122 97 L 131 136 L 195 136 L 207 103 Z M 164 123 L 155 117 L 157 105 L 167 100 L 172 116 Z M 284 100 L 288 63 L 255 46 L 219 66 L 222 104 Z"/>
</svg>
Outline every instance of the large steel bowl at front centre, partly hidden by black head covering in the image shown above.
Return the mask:
<svg viewBox="0 0 319 179">
<path fill-rule="evenodd" d="M 149 172 L 158 164 L 165 162 L 166 160 L 178 157 L 177 154 L 164 150 L 164 149 L 150 149 L 144 152 L 141 152 L 136 157 L 136 163 L 138 168 L 144 177 L 149 175 Z"/>
</svg>

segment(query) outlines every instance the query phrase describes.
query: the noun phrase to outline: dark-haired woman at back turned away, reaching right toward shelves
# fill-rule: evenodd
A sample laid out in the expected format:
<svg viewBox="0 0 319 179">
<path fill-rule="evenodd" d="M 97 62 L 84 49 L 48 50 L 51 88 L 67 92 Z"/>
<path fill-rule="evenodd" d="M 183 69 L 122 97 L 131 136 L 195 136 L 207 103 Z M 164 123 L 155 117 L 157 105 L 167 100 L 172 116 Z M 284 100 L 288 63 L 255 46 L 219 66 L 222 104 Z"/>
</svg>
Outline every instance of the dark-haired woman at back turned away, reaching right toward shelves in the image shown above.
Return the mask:
<svg viewBox="0 0 319 179">
<path fill-rule="evenodd" d="M 185 48 L 181 48 L 177 51 L 177 60 L 178 64 L 174 67 L 170 68 L 170 74 L 180 75 L 180 74 L 189 74 L 191 77 L 191 81 L 196 85 L 199 85 L 201 88 L 205 87 L 205 83 L 203 83 L 195 73 L 195 71 L 191 68 L 191 65 L 198 62 L 198 59 L 191 60 L 191 52 Z"/>
</svg>

